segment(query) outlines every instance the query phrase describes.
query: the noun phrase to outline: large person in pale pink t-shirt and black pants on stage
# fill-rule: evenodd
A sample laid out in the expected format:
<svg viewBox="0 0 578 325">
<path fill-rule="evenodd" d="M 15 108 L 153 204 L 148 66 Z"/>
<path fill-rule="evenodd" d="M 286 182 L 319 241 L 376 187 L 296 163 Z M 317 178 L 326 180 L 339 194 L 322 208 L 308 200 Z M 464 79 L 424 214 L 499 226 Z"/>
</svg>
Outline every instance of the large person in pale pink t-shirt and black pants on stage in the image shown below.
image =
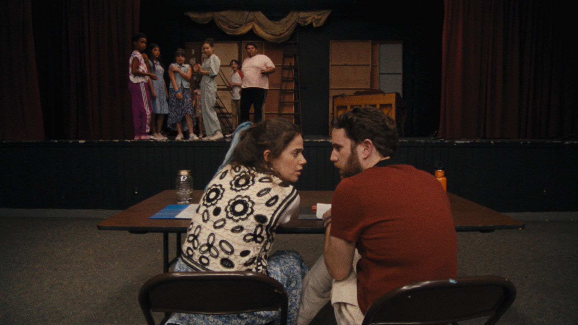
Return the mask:
<svg viewBox="0 0 578 325">
<path fill-rule="evenodd" d="M 268 56 L 257 54 L 257 45 L 247 43 L 245 50 L 249 55 L 243 61 L 243 84 L 241 86 L 241 102 L 239 105 L 239 124 L 249 121 L 251 105 L 255 110 L 253 122 L 263 120 L 263 104 L 269 89 L 269 75 L 275 72 L 275 64 Z"/>
</svg>

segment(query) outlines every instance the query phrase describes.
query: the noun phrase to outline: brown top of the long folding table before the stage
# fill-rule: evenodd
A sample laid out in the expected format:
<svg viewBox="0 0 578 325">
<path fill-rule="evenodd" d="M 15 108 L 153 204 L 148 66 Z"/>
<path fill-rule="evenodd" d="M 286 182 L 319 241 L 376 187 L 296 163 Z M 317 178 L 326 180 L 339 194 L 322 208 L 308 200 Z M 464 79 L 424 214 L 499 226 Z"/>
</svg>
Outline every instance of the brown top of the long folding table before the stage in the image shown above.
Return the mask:
<svg viewBox="0 0 578 325">
<path fill-rule="evenodd" d="M 193 191 L 193 201 L 198 202 L 202 191 Z M 302 206 L 331 203 L 333 191 L 299 191 Z M 458 195 L 447 193 L 456 231 L 493 231 L 497 229 L 522 229 L 525 224 L 495 210 L 486 208 Z M 186 232 L 190 220 L 149 219 L 169 204 L 176 204 L 175 190 L 166 190 L 131 206 L 123 212 L 98 223 L 100 230 L 126 230 L 130 232 Z M 286 224 L 277 227 L 277 234 L 321 234 L 321 220 L 298 220 L 298 213 Z"/>
</svg>

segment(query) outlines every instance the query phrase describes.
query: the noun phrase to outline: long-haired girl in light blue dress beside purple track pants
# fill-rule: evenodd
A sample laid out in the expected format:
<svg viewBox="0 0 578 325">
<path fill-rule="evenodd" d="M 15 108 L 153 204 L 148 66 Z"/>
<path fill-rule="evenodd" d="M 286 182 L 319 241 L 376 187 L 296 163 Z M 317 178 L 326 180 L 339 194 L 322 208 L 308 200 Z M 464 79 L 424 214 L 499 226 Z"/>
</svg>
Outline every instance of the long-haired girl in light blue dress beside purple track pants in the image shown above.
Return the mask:
<svg viewBox="0 0 578 325">
<path fill-rule="evenodd" d="M 153 104 L 153 119 L 151 121 L 151 128 L 153 129 L 153 138 L 155 140 L 166 140 L 166 136 L 161 134 L 162 123 L 165 120 L 165 115 L 169 113 L 169 106 L 166 104 L 168 99 L 168 91 L 166 90 L 165 68 L 162 67 L 161 50 L 158 45 L 152 43 L 147 50 L 149 56 L 150 72 L 157 76 L 157 80 L 153 81 L 151 89 L 151 99 Z"/>
</svg>

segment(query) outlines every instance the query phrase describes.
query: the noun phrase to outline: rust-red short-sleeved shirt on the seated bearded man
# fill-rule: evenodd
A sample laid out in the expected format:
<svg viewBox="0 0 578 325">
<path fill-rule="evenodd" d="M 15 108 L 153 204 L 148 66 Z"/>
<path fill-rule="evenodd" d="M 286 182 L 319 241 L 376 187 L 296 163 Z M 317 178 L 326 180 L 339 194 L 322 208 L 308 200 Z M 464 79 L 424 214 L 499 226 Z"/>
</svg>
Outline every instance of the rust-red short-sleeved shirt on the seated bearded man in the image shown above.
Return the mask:
<svg viewBox="0 0 578 325">
<path fill-rule="evenodd" d="M 442 185 L 392 163 L 343 179 L 332 202 L 331 235 L 357 242 L 361 254 L 357 300 L 364 314 L 399 286 L 457 276 L 457 239 Z"/>
</svg>

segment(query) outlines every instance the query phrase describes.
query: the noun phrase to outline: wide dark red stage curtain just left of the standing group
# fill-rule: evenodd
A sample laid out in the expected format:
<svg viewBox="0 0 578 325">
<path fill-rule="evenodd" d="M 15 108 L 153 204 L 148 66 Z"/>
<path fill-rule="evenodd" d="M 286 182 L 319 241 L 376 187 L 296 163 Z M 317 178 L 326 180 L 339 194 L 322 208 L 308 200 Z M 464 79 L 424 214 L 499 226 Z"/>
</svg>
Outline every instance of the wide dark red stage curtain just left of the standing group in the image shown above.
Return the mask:
<svg viewBox="0 0 578 325">
<path fill-rule="evenodd" d="M 47 139 L 132 139 L 128 58 L 140 0 L 32 0 Z"/>
</svg>

